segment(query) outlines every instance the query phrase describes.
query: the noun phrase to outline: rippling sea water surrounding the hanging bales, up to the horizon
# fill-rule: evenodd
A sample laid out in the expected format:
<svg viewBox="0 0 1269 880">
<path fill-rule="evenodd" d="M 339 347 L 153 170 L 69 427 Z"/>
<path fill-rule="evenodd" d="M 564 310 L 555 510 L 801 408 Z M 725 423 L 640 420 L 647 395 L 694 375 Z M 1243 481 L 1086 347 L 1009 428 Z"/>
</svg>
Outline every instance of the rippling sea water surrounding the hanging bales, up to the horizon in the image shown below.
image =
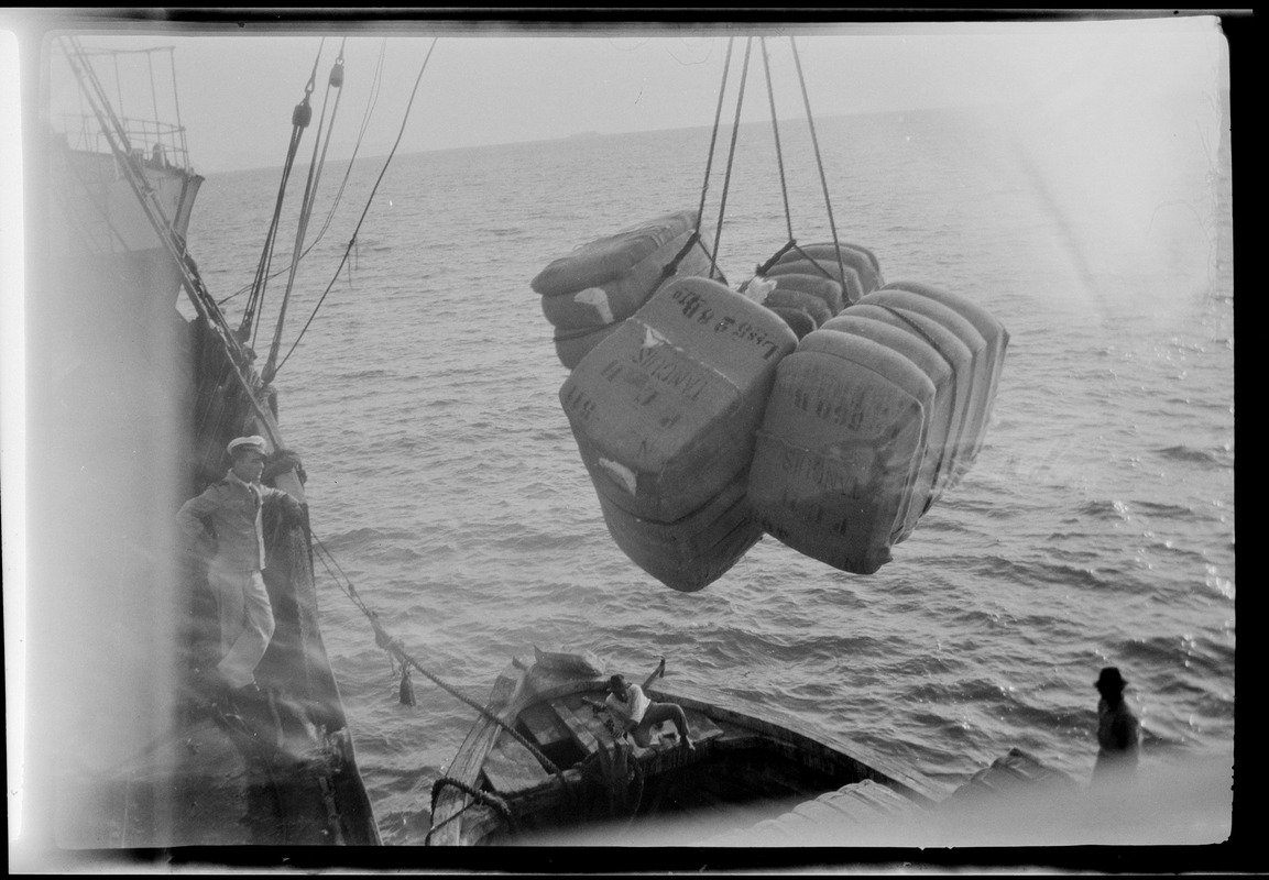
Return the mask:
<svg viewBox="0 0 1269 880">
<path fill-rule="evenodd" d="M 690 595 L 608 536 L 529 280 L 577 245 L 695 208 L 711 131 L 397 156 L 340 268 L 383 166 L 359 159 L 299 265 L 283 351 L 321 307 L 275 382 L 315 535 L 386 629 L 477 701 L 533 645 L 591 649 L 634 673 L 664 656 L 670 681 L 792 713 L 948 782 L 1011 747 L 1086 780 L 1093 681 L 1114 664 L 1146 730 L 1142 773 L 1228 767 L 1227 127 L 1202 93 L 817 120 L 838 235 L 874 250 L 887 280 L 962 293 L 1009 330 L 986 444 L 876 574 L 765 538 Z M 704 191 L 711 231 L 727 138 Z M 805 122 L 783 124 L 780 145 L 794 237 L 830 238 Z M 325 170 L 312 232 L 345 167 Z M 190 249 L 231 320 L 278 179 L 212 175 L 195 209 Z M 292 191 L 298 202 L 302 176 Z M 770 127 L 745 126 L 717 231 L 732 287 L 788 226 Z M 284 283 L 269 288 L 261 353 Z M 365 618 L 319 576 L 383 838 L 421 843 L 431 782 L 475 719 L 419 675 L 418 705 L 401 705 Z"/>
</svg>

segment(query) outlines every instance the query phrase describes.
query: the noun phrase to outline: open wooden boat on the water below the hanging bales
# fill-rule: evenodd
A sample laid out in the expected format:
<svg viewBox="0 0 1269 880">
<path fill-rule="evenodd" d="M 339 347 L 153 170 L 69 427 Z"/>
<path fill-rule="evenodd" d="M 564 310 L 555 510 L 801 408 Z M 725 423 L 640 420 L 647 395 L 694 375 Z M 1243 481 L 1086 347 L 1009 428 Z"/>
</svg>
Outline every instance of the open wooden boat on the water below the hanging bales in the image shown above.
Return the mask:
<svg viewBox="0 0 1269 880">
<path fill-rule="evenodd" d="M 647 682 L 647 695 L 684 710 L 695 747 L 678 742 L 671 724 L 648 748 L 614 742 L 605 713 L 593 706 L 605 685 L 605 676 L 504 672 L 491 713 L 472 727 L 438 784 L 429 842 L 520 846 L 567 831 L 576 834 L 570 842 L 596 843 L 613 833 L 613 822 L 666 818 L 725 833 L 864 781 L 914 809 L 948 794 L 783 713 L 723 705 L 717 695 L 661 680 Z"/>
</svg>

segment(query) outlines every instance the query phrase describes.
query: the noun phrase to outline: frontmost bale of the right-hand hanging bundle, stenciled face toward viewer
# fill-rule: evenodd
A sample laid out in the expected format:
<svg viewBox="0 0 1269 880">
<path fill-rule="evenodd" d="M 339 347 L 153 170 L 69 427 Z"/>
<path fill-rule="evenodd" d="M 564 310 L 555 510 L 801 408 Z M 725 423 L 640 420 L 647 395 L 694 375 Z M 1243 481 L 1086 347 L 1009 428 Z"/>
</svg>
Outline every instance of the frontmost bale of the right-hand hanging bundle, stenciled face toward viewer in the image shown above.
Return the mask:
<svg viewBox="0 0 1269 880">
<path fill-rule="evenodd" d="M 780 361 L 749 501 L 777 540 L 857 574 L 891 559 L 921 479 L 934 384 L 868 339 L 816 330 Z"/>
</svg>

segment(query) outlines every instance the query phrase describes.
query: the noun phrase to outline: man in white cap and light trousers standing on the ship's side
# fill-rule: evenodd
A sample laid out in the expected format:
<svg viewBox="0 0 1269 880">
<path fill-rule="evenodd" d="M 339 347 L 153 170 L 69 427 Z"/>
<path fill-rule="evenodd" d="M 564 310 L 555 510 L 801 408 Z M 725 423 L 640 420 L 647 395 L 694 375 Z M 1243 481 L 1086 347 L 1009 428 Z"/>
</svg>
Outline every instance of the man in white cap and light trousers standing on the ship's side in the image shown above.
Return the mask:
<svg viewBox="0 0 1269 880">
<path fill-rule="evenodd" d="M 265 505 L 282 505 L 289 519 L 303 517 L 296 498 L 260 483 L 266 449 L 261 436 L 231 440 L 225 479 L 187 501 L 176 514 L 187 553 L 208 539 L 216 548 L 207 579 L 220 614 L 221 661 L 206 681 L 217 690 L 254 685 L 255 667 L 273 638 L 273 606 L 261 574 L 266 564 L 261 511 Z M 211 534 L 204 520 L 211 522 Z"/>
</svg>

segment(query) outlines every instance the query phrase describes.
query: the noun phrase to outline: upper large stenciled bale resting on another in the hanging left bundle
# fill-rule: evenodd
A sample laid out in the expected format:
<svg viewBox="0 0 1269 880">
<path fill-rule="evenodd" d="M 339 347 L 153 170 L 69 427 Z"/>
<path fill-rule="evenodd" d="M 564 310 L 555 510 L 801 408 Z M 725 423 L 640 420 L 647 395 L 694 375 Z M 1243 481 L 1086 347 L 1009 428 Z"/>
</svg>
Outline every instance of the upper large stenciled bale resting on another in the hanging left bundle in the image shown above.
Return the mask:
<svg viewBox="0 0 1269 880">
<path fill-rule="evenodd" d="M 770 309 L 679 278 L 595 346 L 560 389 L 596 492 L 669 524 L 749 467 L 775 368 L 797 346 Z"/>
</svg>

